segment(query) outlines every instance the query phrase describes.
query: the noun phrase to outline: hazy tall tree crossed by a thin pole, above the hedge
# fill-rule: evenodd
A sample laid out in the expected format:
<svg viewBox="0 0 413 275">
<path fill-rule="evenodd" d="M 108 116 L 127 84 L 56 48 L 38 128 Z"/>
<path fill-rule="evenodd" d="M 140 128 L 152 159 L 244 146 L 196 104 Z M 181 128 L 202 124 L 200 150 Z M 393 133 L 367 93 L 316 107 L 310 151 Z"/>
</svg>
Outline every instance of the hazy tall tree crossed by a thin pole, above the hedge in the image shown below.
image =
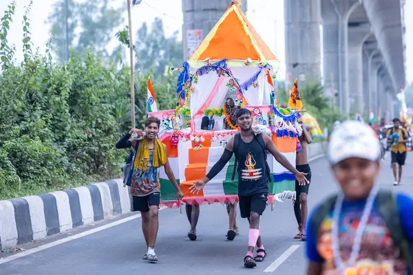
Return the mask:
<svg viewBox="0 0 413 275">
<path fill-rule="evenodd" d="M 106 46 L 123 21 L 125 8 L 113 8 L 115 0 L 75 1 L 68 0 L 68 36 L 69 47 L 76 54 L 92 46 L 95 52 L 108 56 Z M 60 61 L 65 61 L 66 25 L 65 0 L 56 1 L 53 11 L 47 19 L 52 25 L 56 55 Z M 80 30 L 80 32 L 79 32 Z"/>
</svg>

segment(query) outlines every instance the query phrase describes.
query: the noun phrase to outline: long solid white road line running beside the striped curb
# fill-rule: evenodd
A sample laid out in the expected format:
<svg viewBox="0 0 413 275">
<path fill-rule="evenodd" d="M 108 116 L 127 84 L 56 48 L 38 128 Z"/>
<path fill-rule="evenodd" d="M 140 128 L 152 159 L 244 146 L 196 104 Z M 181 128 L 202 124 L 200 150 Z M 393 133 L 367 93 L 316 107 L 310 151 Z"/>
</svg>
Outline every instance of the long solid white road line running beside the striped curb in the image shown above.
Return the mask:
<svg viewBox="0 0 413 275">
<path fill-rule="evenodd" d="M 85 232 L 82 232 L 82 233 L 79 233 L 79 234 L 76 234 L 76 235 L 73 235 L 73 236 L 67 236 L 64 239 L 53 241 L 52 243 L 46 243 L 45 245 L 40 245 L 37 248 L 32 248 L 31 250 L 25 250 L 23 252 L 19 252 L 18 254 L 8 256 L 6 258 L 1 258 L 0 259 L 0 265 L 3 264 L 3 263 L 14 261 L 14 260 L 19 259 L 19 258 L 24 257 L 24 256 L 28 256 L 28 255 L 36 253 L 36 252 L 40 252 L 42 250 L 46 250 L 47 248 L 52 248 L 56 245 L 61 245 L 62 243 L 67 243 L 68 241 L 73 241 L 73 240 L 76 240 L 76 239 L 80 239 L 83 236 L 88 236 L 90 234 L 94 234 L 96 232 L 100 232 L 100 231 L 108 229 L 108 228 L 113 228 L 116 225 L 120 225 L 122 223 L 127 223 L 128 221 L 138 219 L 139 217 L 140 217 L 140 214 L 135 214 L 131 217 L 127 217 L 125 219 L 120 219 L 118 221 L 114 221 L 113 223 L 108 223 L 108 224 L 99 226 L 98 228 L 87 230 Z"/>
</svg>

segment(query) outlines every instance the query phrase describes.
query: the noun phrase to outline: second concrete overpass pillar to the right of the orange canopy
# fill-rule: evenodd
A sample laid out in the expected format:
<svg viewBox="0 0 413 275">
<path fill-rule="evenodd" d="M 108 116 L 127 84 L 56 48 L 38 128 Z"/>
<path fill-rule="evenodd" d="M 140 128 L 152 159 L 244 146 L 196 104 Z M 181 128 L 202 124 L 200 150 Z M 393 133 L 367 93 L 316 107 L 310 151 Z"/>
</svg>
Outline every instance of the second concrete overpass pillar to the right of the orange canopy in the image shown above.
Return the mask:
<svg viewBox="0 0 413 275">
<path fill-rule="evenodd" d="M 350 113 L 348 93 L 348 19 L 361 5 L 359 0 L 321 0 L 324 37 L 324 85 L 337 89 L 338 106 Z"/>
</svg>

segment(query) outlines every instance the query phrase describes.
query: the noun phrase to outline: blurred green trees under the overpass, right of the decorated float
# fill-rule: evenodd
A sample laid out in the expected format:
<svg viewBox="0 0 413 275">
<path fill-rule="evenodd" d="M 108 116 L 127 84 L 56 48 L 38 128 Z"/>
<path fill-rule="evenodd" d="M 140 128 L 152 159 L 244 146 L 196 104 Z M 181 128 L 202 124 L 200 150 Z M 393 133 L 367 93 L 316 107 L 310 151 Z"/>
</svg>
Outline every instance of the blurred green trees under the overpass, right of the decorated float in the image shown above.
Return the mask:
<svg viewBox="0 0 413 275">
<path fill-rule="evenodd" d="M 308 83 L 304 87 L 299 87 L 299 94 L 303 102 L 303 108 L 317 118 L 321 129 L 331 130 L 332 124 L 336 120 L 346 120 L 346 116 L 337 107 L 333 107 L 329 99 L 324 94 L 324 87 L 320 83 Z M 279 89 L 276 93 L 279 105 L 286 106 L 289 92 L 286 89 Z"/>
</svg>

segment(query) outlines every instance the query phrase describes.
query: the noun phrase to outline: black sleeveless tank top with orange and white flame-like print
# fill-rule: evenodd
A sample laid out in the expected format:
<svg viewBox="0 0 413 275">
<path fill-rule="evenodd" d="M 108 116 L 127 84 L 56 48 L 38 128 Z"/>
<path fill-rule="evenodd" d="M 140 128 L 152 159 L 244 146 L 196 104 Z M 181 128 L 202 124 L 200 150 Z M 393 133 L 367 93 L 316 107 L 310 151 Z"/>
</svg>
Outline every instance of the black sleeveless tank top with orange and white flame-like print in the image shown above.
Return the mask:
<svg viewBox="0 0 413 275">
<path fill-rule="evenodd" d="M 268 193 L 268 171 L 264 150 L 257 138 L 245 143 L 240 138 L 237 148 L 238 195 L 249 196 Z"/>
</svg>

